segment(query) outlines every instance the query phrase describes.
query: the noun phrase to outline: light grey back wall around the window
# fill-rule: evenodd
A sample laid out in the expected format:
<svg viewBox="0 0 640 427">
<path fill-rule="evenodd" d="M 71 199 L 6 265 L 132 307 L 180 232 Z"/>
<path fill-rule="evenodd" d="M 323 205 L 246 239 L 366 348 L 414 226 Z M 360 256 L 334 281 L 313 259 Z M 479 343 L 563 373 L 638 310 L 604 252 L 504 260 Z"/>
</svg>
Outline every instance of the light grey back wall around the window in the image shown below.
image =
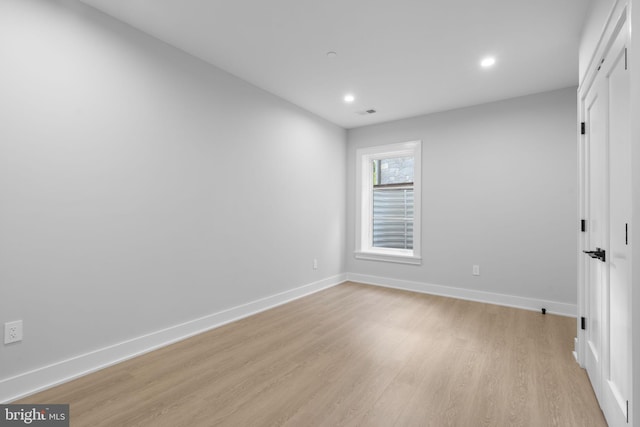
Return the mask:
<svg viewBox="0 0 640 427">
<path fill-rule="evenodd" d="M 575 132 L 575 88 L 350 130 L 347 271 L 575 310 Z M 422 265 L 356 260 L 355 151 L 416 139 L 423 142 Z M 474 264 L 480 276 L 472 276 Z"/>
</svg>

